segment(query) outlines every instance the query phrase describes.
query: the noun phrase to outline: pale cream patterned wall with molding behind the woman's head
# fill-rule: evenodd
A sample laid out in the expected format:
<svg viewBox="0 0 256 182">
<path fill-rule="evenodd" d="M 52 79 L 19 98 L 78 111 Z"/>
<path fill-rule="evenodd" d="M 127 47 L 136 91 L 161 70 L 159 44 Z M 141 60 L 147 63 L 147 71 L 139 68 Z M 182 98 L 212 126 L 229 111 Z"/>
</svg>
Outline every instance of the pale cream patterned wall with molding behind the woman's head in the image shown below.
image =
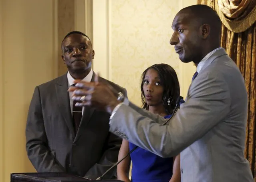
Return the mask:
<svg viewBox="0 0 256 182">
<path fill-rule="evenodd" d="M 171 23 L 183 7 L 197 0 L 93 0 L 94 67 L 125 87 L 131 101 L 141 105 L 141 73 L 155 63 L 177 72 L 181 95 L 186 96 L 196 68 L 184 64 L 169 45 Z"/>
</svg>

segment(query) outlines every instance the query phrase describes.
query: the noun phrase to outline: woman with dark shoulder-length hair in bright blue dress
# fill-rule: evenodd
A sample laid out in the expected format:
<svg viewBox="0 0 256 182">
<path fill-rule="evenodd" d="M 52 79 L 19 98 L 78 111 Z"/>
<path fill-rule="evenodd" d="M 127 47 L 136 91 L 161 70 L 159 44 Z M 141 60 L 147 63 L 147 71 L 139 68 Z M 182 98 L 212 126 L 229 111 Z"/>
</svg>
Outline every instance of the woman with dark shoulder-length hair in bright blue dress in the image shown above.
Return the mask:
<svg viewBox="0 0 256 182">
<path fill-rule="evenodd" d="M 167 64 L 155 64 L 142 73 L 141 99 L 143 108 L 169 118 L 179 97 L 179 81 L 175 70 Z M 136 147 L 123 139 L 119 150 L 120 160 Z M 117 178 L 130 182 L 129 168 L 132 161 L 132 182 L 180 182 L 180 156 L 161 158 L 138 147 L 117 166 Z"/>
</svg>

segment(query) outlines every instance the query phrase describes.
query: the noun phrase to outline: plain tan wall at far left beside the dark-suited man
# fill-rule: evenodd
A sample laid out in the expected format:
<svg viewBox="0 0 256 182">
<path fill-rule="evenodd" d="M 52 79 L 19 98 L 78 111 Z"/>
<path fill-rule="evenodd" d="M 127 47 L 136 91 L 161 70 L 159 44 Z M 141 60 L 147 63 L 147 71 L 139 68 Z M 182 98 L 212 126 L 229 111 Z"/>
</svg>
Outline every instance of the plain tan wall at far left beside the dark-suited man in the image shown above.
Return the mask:
<svg viewBox="0 0 256 182">
<path fill-rule="evenodd" d="M 56 4 L 52 0 L 0 0 L 0 181 L 34 172 L 25 150 L 28 105 L 35 85 L 56 72 Z"/>
</svg>

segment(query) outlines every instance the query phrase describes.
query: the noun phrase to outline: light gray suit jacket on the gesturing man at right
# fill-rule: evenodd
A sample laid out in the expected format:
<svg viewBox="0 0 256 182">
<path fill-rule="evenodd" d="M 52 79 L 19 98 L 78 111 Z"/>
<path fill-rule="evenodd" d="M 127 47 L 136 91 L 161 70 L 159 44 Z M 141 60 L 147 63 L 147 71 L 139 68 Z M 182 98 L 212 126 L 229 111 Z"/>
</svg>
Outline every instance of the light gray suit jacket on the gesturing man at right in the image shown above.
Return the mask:
<svg viewBox="0 0 256 182">
<path fill-rule="evenodd" d="M 167 126 L 162 117 L 129 103 L 117 109 L 110 131 L 162 157 L 181 152 L 182 182 L 253 182 L 244 158 L 247 102 L 244 78 L 220 49 Z"/>
</svg>

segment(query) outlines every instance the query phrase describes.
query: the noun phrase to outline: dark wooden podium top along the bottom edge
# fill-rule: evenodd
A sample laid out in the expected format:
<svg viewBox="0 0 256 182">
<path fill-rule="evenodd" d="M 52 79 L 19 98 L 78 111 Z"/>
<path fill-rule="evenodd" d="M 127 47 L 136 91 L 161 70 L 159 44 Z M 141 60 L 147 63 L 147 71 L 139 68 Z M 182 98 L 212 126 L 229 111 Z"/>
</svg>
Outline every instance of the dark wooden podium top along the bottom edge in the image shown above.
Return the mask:
<svg viewBox="0 0 256 182">
<path fill-rule="evenodd" d="M 81 176 L 67 173 L 11 173 L 10 182 L 96 182 Z M 101 180 L 103 182 L 122 182 L 120 180 Z"/>
</svg>

